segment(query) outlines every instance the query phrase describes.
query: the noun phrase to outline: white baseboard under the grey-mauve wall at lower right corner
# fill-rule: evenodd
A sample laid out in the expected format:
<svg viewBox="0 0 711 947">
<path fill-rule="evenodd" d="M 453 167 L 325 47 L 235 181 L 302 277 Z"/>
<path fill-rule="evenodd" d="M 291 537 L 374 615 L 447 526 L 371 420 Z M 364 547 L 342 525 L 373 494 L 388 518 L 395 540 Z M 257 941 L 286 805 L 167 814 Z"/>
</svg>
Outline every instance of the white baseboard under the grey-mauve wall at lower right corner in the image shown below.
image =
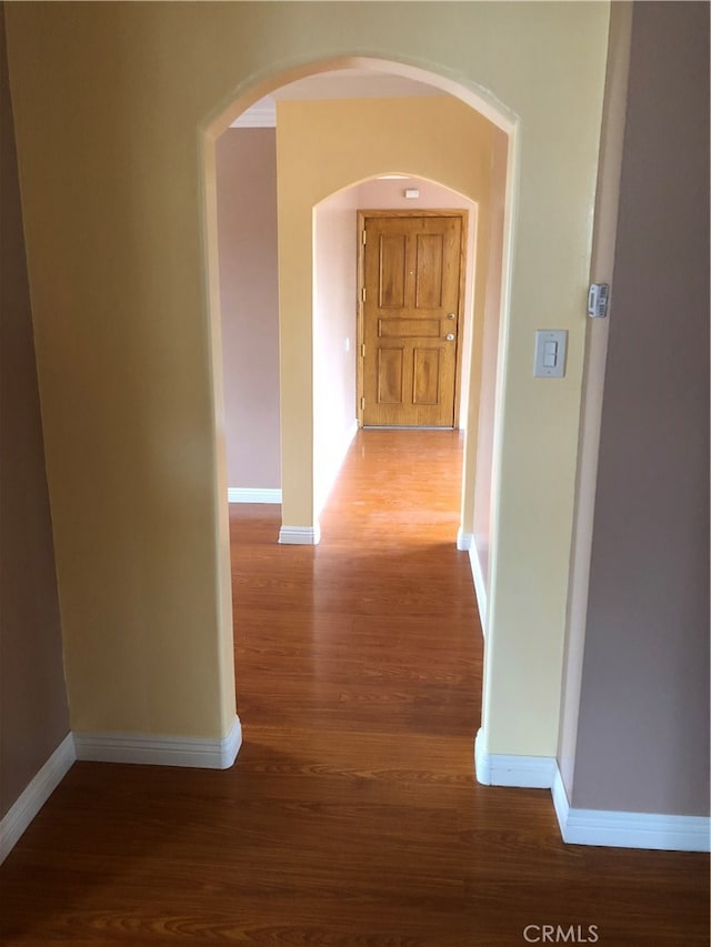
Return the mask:
<svg viewBox="0 0 711 947">
<path fill-rule="evenodd" d="M 711 818 L 708 816 L 571 808 L 558 764 L 552 794 L 563 842 L 571 845 L 655 848 L 667 852 L 711 849 Z"/>
</svg>

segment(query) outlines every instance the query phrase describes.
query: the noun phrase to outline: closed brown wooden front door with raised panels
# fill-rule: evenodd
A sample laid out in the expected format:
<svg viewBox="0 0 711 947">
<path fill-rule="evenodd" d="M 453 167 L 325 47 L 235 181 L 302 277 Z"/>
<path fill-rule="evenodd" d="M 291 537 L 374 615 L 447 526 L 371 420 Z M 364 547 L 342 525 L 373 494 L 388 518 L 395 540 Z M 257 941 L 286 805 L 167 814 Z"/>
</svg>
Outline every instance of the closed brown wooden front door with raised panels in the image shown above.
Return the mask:
<svg viewBox="0 0 711 947">
<path fill-rule="evenodd" d="M 453 427 L 463 214 L 362 222 L 362 424 Z"/>
</svg>

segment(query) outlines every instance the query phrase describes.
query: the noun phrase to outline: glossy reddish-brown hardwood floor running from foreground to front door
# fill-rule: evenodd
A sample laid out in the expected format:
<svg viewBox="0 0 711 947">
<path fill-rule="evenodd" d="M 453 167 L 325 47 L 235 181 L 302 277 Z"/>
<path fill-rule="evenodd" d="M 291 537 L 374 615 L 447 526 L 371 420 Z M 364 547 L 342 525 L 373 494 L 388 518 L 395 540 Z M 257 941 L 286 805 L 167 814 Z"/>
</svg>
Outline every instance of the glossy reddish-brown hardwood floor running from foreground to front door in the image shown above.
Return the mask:
<svg viewBox="0 0 711 947">
<path fill-rule="evenodd" d="M 460 456 L 361 432 L 318 547 L 231 507 L 237 765 L 76 764 L 0 868 L 3 945 L 709 943 L 705 856 L 567 846 L 548 790 L 475 783 Z"/>
</svg>

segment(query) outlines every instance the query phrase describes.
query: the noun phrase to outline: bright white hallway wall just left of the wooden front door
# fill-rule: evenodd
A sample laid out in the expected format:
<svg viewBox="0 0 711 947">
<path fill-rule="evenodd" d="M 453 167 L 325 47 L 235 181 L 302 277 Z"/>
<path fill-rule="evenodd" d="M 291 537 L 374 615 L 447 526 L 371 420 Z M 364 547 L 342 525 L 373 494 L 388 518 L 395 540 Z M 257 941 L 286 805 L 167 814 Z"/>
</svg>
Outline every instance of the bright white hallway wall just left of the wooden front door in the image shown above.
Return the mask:
<svg viewBox="0 0 711 947">
<path fill-rule="evenodd" d="M 313 498 L 319 514 L 356 433 L 357 210 L 353 188 L 313 212 Z"/>
</svg>

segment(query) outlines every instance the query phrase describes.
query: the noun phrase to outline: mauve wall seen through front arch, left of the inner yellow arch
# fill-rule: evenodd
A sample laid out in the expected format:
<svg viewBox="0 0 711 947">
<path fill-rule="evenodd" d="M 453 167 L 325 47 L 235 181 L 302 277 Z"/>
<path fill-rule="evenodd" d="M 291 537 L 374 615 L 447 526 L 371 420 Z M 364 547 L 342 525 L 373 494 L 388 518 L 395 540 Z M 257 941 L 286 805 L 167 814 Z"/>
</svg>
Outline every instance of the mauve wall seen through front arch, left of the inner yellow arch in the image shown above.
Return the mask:
<svg viewBox="0 0 711 947">
<path fill-rule="evenodd" d="M 281 486 L 274 129 L 228 129 L 214 150 L 228 486 Z"/>
</svg>

